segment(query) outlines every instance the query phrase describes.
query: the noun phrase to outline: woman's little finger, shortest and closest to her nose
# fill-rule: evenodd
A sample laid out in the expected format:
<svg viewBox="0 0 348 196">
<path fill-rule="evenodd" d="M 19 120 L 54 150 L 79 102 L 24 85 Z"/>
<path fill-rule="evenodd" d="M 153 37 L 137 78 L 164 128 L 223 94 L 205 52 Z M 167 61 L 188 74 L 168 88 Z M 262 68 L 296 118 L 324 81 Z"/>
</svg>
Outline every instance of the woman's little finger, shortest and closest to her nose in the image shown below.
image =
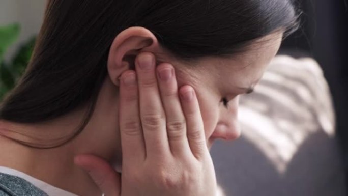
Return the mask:
<svg viewBox="0 0 348 196">
<path fill-rule="evenodd" d="M 187 124 L 187 138 L 193 155 L 200 158 L 207 152 L 204 124 L 199 104 L 192 87 L 184 86 L 180 90 L 182 108 Z"/>
</svg>

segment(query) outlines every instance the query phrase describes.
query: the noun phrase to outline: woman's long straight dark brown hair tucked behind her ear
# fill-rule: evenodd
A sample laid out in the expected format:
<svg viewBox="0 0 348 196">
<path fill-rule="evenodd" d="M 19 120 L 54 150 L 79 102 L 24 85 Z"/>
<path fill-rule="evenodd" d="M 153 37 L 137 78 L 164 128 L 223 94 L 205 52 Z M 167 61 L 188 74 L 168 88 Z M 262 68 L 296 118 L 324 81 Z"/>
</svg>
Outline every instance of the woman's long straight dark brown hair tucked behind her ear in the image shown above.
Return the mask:
<svg viewBox="0 0 348 196">
<path fill-rule="evenodd" d="M 78 134 L 93 114 L 111 43 L 127 27 L 146 27 L 189 60 L 292 32 L 297 18 L 291 0 L 50 0 L 31 62 L 0 105 L 0 119 L 38 123 L 88 106 Z"/>
</svg>

